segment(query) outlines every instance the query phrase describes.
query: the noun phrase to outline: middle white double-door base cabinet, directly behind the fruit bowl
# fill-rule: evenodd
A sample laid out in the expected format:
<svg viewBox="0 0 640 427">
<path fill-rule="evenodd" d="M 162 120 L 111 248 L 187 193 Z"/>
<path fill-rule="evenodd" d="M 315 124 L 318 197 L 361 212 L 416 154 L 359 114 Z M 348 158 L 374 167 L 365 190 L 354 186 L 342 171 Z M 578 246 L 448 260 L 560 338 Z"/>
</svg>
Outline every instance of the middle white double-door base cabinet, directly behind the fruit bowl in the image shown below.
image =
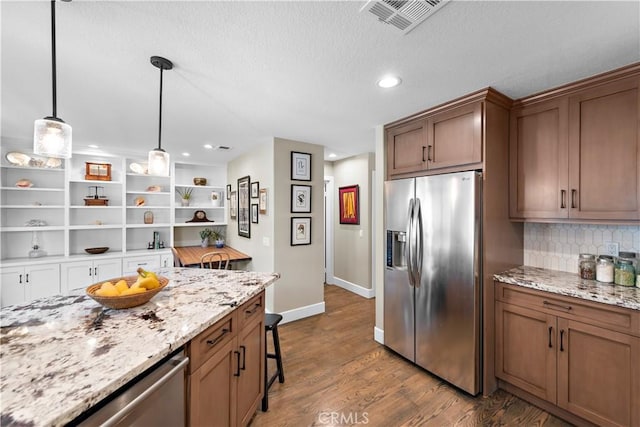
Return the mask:
<svg viewBox="0 0 640 427">
<path fill-rule="evenodd" d="M 122 276 L 121 258 L 63 262 L 60 266 L 62 292 L 65 294 Z"/>
</svg>

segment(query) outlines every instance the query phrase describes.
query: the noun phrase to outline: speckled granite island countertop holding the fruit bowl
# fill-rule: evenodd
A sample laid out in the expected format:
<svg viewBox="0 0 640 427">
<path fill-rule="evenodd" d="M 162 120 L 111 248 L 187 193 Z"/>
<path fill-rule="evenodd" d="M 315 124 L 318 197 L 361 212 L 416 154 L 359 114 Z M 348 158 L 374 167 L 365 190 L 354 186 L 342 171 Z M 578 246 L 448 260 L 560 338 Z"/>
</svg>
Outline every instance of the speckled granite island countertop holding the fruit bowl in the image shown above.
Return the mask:
<svg viewBox="0 0 640 427">
<path fill-rule="evenodd" d="M 280 276 L 196 268 L 156 271 L 148 303 L 111 310 L 84 294 L 0 311 L 0 425 L 63 425 Z"/>
</svg>

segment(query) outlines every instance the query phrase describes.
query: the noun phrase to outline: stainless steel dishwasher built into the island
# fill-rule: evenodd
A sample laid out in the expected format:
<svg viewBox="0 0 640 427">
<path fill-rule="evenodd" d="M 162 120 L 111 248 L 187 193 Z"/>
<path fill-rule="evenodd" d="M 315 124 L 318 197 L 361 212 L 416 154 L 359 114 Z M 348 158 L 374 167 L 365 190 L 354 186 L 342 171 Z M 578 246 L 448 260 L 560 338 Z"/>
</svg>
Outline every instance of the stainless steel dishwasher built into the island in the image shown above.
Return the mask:
<svg viewBox="0 0 640 427">
<path fill-rule="evenodd" d="M 160 362 L 131 385 L 115 393 L 79 426 L 184 426 L 185 370 L 189 358 L 181 351 Z"/>
</svg>

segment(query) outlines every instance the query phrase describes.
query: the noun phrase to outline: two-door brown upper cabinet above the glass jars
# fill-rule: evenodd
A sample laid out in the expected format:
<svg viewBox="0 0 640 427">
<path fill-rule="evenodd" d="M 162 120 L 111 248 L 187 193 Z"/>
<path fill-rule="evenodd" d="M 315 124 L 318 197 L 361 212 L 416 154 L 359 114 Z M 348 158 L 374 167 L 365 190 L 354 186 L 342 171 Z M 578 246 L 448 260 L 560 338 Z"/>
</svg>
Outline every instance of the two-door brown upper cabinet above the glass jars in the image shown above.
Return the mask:
<svg viewBox="0 0 640 427">
<path fill-rule="evenodd" d="M 510 215 L 640 220 L 640 66 L 516 102 Z"/>
</svg>

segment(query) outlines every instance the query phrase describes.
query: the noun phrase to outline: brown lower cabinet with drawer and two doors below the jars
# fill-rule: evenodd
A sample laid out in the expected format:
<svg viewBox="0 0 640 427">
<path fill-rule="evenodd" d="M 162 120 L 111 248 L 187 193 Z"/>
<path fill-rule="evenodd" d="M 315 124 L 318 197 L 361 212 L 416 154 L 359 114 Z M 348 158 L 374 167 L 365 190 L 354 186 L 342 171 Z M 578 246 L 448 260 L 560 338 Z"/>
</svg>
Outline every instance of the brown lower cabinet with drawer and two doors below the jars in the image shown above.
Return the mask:
<svg viewBox="0 0 640 427">
<path fill-rule="evenodd" d="M 640 313 L 496 292 L 496 377 L 595 424 L 640 425 Z"/>
</svg>

